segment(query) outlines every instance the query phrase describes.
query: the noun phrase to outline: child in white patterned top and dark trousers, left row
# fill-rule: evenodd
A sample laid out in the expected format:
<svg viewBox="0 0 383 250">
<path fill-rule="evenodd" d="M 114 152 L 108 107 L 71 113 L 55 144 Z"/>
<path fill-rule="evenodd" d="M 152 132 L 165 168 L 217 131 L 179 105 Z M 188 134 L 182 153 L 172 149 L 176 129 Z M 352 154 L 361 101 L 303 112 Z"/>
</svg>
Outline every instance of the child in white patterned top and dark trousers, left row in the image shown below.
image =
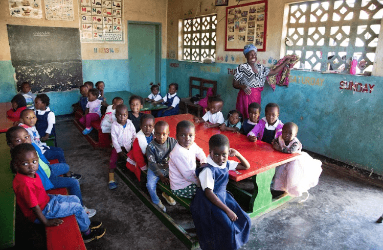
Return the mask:
<svg viewBox="0 0 383 250">
<path fill-rule="evenodd" d="M 50 147 L 47 143 L 40 140 L 40 134 L 36 129 L 37 117 L 33 110 L 26 109 L 21 111 L 20 114 L 20 123 L 18 126 L 25 128 L 30 137 L 32 143 L 35 143 L 41 150 L 42 154 L 48 159 L 53 160 L 57 159 L 59 163 L 66 163 L 64 157 L 64 151 L 60 147 Z"/>
</svg>

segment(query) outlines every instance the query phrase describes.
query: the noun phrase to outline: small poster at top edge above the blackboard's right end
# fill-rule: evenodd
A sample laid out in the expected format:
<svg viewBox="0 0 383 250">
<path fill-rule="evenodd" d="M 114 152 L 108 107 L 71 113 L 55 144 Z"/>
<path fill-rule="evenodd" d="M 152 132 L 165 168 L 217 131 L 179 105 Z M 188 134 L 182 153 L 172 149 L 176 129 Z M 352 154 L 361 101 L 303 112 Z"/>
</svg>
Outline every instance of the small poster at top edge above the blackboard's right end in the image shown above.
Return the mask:
<svg viewBox="0 0 383 250">
<path fill-rule="evenodd" d="M 44 0 L 47 20 L 73 21 L 73 0 Z"/>
</svg>

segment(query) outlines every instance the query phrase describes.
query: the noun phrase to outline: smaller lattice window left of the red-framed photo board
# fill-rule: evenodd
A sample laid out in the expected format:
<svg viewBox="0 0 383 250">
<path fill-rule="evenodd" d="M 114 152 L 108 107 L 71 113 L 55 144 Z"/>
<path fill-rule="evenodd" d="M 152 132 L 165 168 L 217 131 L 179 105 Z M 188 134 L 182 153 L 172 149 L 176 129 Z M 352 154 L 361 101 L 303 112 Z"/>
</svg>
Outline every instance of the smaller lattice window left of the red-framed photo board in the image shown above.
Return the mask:
<svg viewBox="0 0 383 250">
<path fill-rule="evenodd" d="M 200 62 L 215 59 L 217 15 L 184 19 L 182 22 L 182 59 Z"/>
</svg>

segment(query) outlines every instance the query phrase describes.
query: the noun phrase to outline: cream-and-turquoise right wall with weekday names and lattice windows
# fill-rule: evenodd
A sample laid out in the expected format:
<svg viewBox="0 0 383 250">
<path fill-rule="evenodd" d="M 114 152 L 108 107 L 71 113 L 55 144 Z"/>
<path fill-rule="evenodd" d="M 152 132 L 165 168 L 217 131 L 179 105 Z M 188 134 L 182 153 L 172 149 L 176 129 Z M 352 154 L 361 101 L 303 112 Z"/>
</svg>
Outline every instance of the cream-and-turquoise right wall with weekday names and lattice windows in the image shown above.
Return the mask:
<svg viewBox="0 0 383 250">
<path fill-rule="evenodd" d="M 215 7 L 213 0 L 169 0 L 167 34 L 167 82 L 179 84 L 178 95 L 189 95 L 189 77 L 201 77 L 218 82 L 218 94 L 225 102 L 223 115 L 235 109 L 238 90 L 232 87 L 233 70 L 244 63 L 242 52 L 224 51 L 226 7 Z M 254 1 L 241 1 L 240 4 Z M 258 52 L 258 60 L 267 67 L 284 55 L 283 15 L 285 4 L 295 1 L 268 1 L 266 51 Z M 229 1 L 230 6 L 238 2 Z M 217 13 L 216 63 L 204 64 L 178 60 L 178 20 Z M 383 37 L 383 25 L 380 36 Z M 294 121 L 299 126 L 298 138 L 305 149 L 374 173 L 383 174 L 380 140 L 383 132 L 383 111 L 380 109 L 383 90 L 383 39 L 378 42 L 371 77 L 349 74 L 322 74 L 292 70 L 288 87 L 276 90 L 265 85 L 262 109 L 269 102 L 281 107 L 280 119 Z M 355 91 L 352 86 L 355 85 Z M 363 87 L 363 88 L 362 88 Z M 262 110 L 261 116 L 264 116 Z"/>
</svg>

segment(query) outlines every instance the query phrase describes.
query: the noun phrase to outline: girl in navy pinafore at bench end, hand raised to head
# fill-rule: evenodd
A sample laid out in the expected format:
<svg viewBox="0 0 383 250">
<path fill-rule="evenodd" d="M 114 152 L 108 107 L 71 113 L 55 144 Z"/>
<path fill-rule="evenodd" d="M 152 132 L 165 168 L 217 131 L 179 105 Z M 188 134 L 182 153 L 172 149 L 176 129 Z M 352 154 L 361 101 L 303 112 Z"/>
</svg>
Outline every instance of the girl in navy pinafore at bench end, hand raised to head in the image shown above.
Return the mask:
<svg viewBox="0 0 383 250">
<path fill-rule="evenodd" d="M 240 163 L 228 160 L 237 157 Z M 226 191 L 229 170 L 249 169 L 250 164 L 228 137 L 218 134 L 209 140 L 208 164 L 196 170 L 198 188 L 190 212 L 201 249 L 238 249 L 249 240 L 251 220 Z"/>
</svg>

